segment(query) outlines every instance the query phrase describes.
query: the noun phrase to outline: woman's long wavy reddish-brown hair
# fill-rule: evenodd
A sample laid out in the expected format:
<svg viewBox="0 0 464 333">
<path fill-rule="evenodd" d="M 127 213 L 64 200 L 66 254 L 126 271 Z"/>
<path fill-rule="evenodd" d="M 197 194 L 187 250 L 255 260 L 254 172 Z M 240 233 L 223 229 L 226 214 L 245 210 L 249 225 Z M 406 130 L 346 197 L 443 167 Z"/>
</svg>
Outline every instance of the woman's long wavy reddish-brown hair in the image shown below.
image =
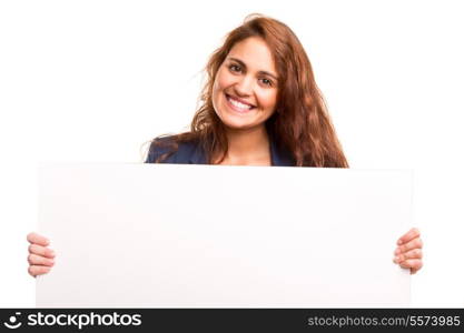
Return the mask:
<svg viewBox="0 0 464 333">
<path fill-rule="evenodd" d="M 225 125 L 213 107 L 213 85 L 231 48 L 250 37 L 259 37 L 267 43 L 279 75 L 276 111 L 266 121 L 269 137 L 293 155 L 297 167 L 348 168 L 302 43 L 286 24 L 260 14 L 248 16 L 211 54 L 205 69 L 207 78 L 201 103 L 190 131 L 174 135 L 174 140 L 168 141 L 169 152 L 156 162 L 175 152 L 179 143 L 190 141 L 201 144 L 209 163 L 217 157 L 219 162 L 224 160 L 228 141 Z M 166 140 L 155 139 L 152 144 L 162 145 Z"/>
</svg>

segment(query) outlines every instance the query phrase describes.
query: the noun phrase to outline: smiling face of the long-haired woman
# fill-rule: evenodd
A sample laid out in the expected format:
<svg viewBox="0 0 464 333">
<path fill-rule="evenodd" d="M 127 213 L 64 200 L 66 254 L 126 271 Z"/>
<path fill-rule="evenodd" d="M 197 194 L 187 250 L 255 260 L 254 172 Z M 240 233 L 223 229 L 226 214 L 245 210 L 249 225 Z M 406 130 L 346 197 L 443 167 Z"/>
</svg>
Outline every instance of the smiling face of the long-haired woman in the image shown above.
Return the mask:
<svg viewBox="0 0 464 333">
<path fill-rule="evenodd" d="M 236 43 L 215 78 L 216 114 L 230 129 L 263 127 L 276 108 L 277 79 L 273 54 L 261 38 Z"/>
</svg>

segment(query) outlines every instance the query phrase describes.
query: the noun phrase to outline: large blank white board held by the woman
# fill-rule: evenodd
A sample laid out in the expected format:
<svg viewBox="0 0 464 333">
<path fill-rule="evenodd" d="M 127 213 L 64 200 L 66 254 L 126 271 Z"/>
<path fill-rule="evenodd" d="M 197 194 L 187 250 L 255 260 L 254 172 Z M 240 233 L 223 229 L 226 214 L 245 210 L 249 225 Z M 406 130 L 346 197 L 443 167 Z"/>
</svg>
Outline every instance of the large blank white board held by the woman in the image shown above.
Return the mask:
<svg viewBox="0 0 464 333">
<path fill-rule="evenodd" d="M 46 164 L 37 306 L 407 306 L 411 219 L 411 171 Z"/>
</svg>

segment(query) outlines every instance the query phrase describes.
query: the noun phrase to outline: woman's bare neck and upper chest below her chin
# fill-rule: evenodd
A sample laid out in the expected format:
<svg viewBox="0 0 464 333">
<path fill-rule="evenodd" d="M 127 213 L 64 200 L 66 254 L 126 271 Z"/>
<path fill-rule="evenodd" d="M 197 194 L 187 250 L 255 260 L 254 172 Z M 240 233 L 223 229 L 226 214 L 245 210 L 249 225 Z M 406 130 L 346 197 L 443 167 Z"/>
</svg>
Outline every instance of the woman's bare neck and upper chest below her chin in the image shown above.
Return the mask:
<svg viewBox="0 0 464 333">
<path fill-rule="evenodd" d="M 269 137 L 266 128 L 227 130 L 228 152 L 220 164 L 270 165 Z"/>
</svg>

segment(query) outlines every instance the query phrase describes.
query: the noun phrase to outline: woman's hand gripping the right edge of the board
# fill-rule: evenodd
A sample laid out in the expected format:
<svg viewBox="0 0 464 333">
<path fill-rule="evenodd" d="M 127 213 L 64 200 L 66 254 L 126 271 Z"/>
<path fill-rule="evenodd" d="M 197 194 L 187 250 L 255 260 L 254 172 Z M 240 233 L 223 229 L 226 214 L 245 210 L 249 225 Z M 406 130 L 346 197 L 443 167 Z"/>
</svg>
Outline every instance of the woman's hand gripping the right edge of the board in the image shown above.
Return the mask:
<svg viewBox="0 0 464 333">
<path fill-rule="evenodd" d="M 397 242 L 394 263 L 403 269 L 411 269 L 411 274 L 417 273 L 422 269 L 422 240 L 417 228 L 411 229 Z"/>
</svg>

